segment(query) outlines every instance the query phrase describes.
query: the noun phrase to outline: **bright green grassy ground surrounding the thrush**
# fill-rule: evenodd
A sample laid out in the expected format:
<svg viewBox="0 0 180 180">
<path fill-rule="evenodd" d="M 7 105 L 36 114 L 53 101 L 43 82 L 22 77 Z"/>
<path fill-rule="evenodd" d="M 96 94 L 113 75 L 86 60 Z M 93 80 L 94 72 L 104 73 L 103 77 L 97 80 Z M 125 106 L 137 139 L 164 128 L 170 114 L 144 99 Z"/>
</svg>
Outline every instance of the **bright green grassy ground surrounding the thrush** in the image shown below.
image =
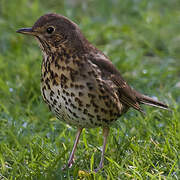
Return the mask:
<svg viewBox="0 0 180 180">
<path fill-rule="evenodd" d="M 129 84 L 172 108 L 144 107 L 145 118 L 131 110 L 115 122 L 96 174 L 100 128 L 83 131 L 76 163 L 61 171 L 76 130 L 42 101 L 41 52 L 35 40 L 15 33 L 47 12 L 74 20 Z M 179 0 L 1 0 L 0 179 L 179 179 L 179 20 Z"/>
</svg>

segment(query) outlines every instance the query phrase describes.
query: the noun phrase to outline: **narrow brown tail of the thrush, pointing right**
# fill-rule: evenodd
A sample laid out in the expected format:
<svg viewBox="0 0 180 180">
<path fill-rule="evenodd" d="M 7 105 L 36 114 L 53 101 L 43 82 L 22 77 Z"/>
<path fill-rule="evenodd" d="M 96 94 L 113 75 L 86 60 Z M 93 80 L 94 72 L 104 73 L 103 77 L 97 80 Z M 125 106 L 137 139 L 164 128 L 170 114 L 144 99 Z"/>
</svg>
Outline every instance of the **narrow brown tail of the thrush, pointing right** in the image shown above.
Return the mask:
<svg viewBox="0 0 180 180">
<path fill-rule="evenodd" d="M 153 98 L 150 98 L 148 96 L 145 96 L 143 94 L 140 94 L 138 92 L 135 92 L 136 94 L 136 97 L 139 101 L 139 103 L 141 104 L 146 104 L 146 105 L 149 105 L 149 106 L 154 106 L 154 107 L 158 107 L 158 108 L 161 108 L 161 109 L 166 109 L 166 110 L 169 110 L 169 107 L 168 105 L 160 102 L 160 101 L 157 101 Z"/>
</svg>

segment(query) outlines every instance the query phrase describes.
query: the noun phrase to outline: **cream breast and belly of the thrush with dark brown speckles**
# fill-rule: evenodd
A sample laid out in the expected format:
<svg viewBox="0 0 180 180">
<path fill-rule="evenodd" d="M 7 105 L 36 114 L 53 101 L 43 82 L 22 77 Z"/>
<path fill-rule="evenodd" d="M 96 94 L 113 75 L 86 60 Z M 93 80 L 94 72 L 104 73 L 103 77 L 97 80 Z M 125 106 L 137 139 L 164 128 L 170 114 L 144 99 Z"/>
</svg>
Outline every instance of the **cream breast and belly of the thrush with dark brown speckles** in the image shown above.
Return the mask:
<svg viewBox="0 0 180 180">
<path fill-rule="evenodd" d="M 109 125 L 120 112 L 116 98 L 104 88 L 99 73 L 76 57 L 69 57 L 68 62 L 47 57 L 42 64 L 43 99 L 58 119 L 70 125 Z"/>
</svg>

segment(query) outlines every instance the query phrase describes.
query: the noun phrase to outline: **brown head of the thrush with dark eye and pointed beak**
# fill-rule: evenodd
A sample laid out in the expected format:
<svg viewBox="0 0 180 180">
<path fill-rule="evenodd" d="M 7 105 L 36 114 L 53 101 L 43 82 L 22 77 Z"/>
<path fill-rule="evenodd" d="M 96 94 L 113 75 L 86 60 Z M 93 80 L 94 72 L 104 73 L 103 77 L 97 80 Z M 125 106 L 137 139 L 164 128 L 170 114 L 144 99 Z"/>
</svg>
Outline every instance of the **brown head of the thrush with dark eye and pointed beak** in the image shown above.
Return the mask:
<svg viewBox="0 0 180 180">
<path fill-rule="evenodd" d="M 36 37 L 43 52 L 54 52 L 62 48 L 83 50 L 87 40 L 78 26 L 58 14 L 41 16 L 31 28 L 22 28 L 18 33 Z"/>
</svg>

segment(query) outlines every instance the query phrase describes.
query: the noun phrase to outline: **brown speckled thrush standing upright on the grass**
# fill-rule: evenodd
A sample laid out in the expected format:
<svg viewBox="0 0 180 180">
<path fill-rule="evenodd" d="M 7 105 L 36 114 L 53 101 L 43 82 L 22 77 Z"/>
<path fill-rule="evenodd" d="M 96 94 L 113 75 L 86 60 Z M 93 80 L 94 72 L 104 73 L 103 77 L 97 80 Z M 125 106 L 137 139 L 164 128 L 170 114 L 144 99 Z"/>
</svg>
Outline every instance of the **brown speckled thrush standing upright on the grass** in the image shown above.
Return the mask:
<svg viewBox="0 0 180 180">
<path fill-rule="evenodd" d="M 142 114 L 142 104 L 168 110 L 167 104 L 139 93 L 121 76 L 110 59 L 81 32 L 76 23 L 63 15 L 48 13 L 32 27 L 17 33 L 31 35 L 42 51 L 41 94 L 61 121 L 77 128 L 69 160 L 74 154 L 83 128 L 102 127 L 103 148 L 97 169 L 104 166 L 110 126 L 133 108 Z"/>
</svg>

